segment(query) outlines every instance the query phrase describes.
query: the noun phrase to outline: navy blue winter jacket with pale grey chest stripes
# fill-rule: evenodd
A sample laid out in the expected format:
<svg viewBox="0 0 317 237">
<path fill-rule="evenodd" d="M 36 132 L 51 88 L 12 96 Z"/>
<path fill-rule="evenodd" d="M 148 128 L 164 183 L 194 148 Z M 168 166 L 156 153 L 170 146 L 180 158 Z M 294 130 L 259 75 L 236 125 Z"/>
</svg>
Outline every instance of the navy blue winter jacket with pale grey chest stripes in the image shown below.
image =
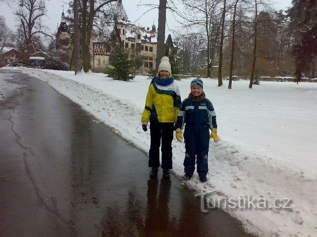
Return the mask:
<svg viewBox="0 0 317 237">
<path fill-rule="evenodd" d="M 196 102 L 186 98 L 178 111 L 175 128 L 183 129 L 185 123 L 196 127 L 217 128 L 216 113 L 211 101 L 205 98 Z"/>
</svg>

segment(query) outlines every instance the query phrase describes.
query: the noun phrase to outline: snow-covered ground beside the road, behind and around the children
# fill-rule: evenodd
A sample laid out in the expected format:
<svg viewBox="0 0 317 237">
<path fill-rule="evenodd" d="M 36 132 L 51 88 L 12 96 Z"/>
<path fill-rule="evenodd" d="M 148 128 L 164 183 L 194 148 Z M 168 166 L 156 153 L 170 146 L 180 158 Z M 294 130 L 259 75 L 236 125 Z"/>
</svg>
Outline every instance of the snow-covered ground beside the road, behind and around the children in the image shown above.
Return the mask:
<svg viewBox="0 0 317 237">
<path fill-rule="evenodd" d="M 47 81 L 97 122 L 148 152 L 150 133 L 142 130 L 140 121 L 147 77 L 124 82 L 103 74 L 20 69 Z M 209 181 L 200 183 L 195 173 L 184 183 L 198 192 L 219 189 L 208 194 L 210 200 L 258 236 L 316 237 L 317 83 L 261 82 L 249 89 L 248 81 L 233 81 L 228 90 L 227 81 L 221 87 L 216 80 L 203 81 L 221 141 L 210 143 Z M 190 79 L 177 84 L 183 100 Z M 180 178 L 184 154 L 184 143 L 174 139 L 173 172 Z"/>
</svg>

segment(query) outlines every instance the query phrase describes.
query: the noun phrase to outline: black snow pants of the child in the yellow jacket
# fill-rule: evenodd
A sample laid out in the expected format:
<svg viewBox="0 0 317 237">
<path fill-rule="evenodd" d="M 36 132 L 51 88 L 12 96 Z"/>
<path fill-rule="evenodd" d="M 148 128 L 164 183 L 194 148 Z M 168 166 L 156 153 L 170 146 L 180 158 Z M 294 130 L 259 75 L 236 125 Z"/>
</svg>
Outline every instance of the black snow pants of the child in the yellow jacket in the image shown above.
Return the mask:
<svg viewBox="0 0 317 237">
<path fill-rule="evenodd" d="M 173 122 L 150 122 L 151 146 L 149 151 L 149 167 L 159 167 L 159 147 L 162 141 L 162 169 L 172 169 Z"/>
</svg>

